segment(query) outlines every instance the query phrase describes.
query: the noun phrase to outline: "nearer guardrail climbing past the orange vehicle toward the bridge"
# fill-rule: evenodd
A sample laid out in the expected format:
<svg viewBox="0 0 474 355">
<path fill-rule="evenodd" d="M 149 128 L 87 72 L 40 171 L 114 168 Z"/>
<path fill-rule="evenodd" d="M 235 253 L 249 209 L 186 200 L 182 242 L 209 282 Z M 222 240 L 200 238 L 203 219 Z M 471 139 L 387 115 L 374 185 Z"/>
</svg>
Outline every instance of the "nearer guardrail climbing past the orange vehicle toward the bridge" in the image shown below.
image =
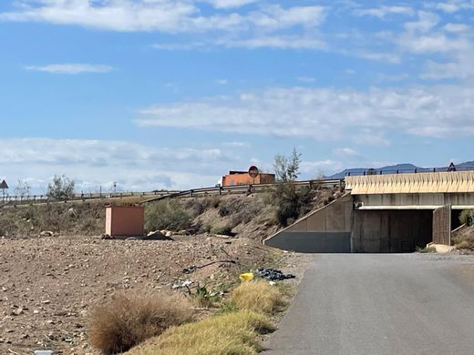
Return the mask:
<svg viewBox="0 0 474 355">
<path fill-rule="evenodd" d="M 343 189 L 345 186 L 344 178 L 332 179 L 317 179 L 306 181 L 294 181 L 292 184 L 296 188 L 339 188 Z M 273 191 L 279 183 L 273 184 L 255 184 L 255 185 L 234 185 L 234 186 L 217 186 L 213 188 L 193 188 L 191 190 L 180 191 L 168 196 L 160 196 L 156 198 L 149 198 L 142 203 L 157 201 L 163 198 L 197 198 L 211 195 L 231 195 L 231 194 L 252 194 L 256 192 Z"/>
</svg>

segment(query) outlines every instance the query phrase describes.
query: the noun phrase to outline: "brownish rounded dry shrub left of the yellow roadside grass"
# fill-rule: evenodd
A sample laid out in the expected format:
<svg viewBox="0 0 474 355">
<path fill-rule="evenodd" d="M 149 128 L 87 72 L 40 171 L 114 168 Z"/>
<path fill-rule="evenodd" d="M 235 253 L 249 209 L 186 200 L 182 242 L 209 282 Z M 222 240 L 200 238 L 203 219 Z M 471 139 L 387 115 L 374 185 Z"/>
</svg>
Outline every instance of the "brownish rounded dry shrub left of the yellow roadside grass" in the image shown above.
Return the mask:
<svg viewBox="0 0 474 355">
<path fill-rule="evenodd" d="M 107 305 L 94 309 L 90 343 L 105 354 L 116 354 L 192 317 L 191 303 L 182 297 L 119 294 Z"/>
</svg>

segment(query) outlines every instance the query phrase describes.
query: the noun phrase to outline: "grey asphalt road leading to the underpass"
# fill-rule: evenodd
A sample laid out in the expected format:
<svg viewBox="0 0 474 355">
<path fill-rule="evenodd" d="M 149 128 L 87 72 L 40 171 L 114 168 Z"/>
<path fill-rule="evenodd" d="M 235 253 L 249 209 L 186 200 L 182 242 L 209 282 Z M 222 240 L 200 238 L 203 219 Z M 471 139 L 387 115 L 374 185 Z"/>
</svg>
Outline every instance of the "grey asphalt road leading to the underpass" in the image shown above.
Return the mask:
<svg viewBox="0 0 474 355">
<path fill-rule="evenodd" d="M 315 255 L 265 355 L 474 354 L 474 257 Z"/>
</svg>

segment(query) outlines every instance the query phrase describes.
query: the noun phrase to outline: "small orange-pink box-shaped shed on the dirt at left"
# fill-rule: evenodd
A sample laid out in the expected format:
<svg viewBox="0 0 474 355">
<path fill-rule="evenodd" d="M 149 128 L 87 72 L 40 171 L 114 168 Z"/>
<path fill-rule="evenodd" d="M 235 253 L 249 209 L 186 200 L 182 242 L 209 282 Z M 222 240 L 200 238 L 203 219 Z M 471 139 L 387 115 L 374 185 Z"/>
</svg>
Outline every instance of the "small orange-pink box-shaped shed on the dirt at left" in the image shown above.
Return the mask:
<svg viewBox="0 0 474 355">
<path fill-rule="evenodd" d="M 145 208 L 106 206 L 106 234 L 110 237 L 142 237 L 145 233 Z"/>
</svg>

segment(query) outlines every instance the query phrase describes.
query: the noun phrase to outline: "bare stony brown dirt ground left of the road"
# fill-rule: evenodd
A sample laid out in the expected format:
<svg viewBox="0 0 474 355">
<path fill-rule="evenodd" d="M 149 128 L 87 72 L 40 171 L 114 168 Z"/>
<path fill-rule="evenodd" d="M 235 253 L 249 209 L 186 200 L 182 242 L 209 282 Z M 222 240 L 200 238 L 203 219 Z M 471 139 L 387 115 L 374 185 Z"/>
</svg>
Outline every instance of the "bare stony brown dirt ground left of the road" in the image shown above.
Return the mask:
<svg viewBox="0 0 474 355">
<path fill-rule="evenodd" d="M 0 353 L 97 354 L 88 344 L 88 315 L 119 291 L 185 291 L 207 282 L 225 289 L 242 270 L 290 265 L 289 253 L 245 238 L 178 237 L 174 241 L 98 237 L 0 239 Z M 183 269 L 216 263 L 191 274 Z M 283 260 L 283 261 L 282 261 Z"/>
</svg>

